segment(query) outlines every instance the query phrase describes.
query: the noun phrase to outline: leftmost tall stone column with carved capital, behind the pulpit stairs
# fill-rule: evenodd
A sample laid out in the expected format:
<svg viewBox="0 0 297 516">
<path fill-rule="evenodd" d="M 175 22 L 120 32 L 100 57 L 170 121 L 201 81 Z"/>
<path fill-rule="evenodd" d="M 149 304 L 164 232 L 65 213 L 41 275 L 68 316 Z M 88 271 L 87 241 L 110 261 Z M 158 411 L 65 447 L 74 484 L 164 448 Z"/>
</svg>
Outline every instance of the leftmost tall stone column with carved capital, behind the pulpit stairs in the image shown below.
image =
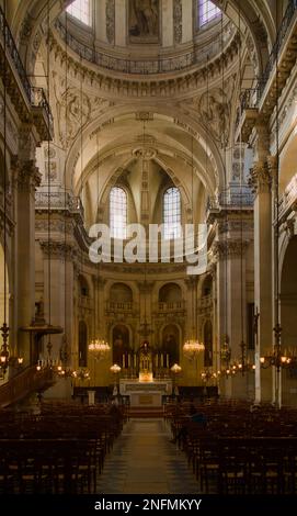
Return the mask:
<svg viewBox="0 0 297 516">
<path fill-rule="evenodd" d="M 30 362 L 30 334 L 21 328 L 31 325 L 35 315 L 35 189 L 41 175 L 35 160 L 15 161 L 13 165 L 16 189 L 15 218 L 15 318 L 19 354 L 24 364 Z"/>
</svg>

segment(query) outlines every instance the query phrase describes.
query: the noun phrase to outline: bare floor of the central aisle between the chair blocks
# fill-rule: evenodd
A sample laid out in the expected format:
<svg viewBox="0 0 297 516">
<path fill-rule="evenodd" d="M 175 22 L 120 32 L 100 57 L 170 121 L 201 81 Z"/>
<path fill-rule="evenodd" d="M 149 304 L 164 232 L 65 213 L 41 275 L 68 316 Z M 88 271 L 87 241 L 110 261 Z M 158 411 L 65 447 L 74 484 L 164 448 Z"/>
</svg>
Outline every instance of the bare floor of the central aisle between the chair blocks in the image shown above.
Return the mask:
<svg viewBox="0 0 297 516">
<path fill-rule="evenodd" d="M 130 419 L 116 440 L 99 479 L 103 494 L 195 494 L 198 483 L 185 455 L 170 442 L 163 419 Z"/>
</svg>

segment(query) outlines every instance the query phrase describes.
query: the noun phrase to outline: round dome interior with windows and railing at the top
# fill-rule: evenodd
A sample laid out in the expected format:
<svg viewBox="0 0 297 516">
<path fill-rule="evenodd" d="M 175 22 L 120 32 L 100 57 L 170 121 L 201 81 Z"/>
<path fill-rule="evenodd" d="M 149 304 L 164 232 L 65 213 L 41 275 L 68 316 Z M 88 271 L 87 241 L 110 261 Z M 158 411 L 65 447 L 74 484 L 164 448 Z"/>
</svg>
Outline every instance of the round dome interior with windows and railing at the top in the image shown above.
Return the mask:
<svg viewBox="0 0 297 516">
<path fill-rule="evenodd" d="M 235 36 L 235 25 L 206 0 L 75 0 L 53 27 L 56 41 L 91 65 L 134 77 L 197 69 Z"/>
</svg>

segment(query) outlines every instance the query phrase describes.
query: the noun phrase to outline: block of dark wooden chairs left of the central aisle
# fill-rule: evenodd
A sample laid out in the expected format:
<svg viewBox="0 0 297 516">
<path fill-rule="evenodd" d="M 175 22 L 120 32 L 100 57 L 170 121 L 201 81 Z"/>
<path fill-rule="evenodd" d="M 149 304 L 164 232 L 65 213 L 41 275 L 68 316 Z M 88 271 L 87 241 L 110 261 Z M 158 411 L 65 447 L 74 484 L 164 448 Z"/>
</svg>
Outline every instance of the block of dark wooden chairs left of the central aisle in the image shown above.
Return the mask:
<svg viewBox="0 0 297 516">
<path fill-rule="evenodd" d="M 125 407 L 44 403 L 0 412 L 0 494 L 95 493 Z"/>
</svg>

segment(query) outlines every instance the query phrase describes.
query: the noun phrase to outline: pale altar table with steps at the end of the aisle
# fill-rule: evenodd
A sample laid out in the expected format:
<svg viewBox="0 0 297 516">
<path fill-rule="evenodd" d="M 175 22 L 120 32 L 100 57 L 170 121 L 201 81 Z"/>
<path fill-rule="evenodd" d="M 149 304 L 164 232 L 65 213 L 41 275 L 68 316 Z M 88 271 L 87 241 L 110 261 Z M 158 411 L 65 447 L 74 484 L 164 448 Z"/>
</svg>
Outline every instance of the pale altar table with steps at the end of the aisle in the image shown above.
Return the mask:
<svg viewBox="0 0 297 516">
<path fill-rule="evenodd" d="M 119 380 L 119 394 L 129 396 L 130 406 L 160 407 L 162 396 L 172 394 L 172 381 L 170 379 L 151 381 L 122 379 Z"/>
</svg>

